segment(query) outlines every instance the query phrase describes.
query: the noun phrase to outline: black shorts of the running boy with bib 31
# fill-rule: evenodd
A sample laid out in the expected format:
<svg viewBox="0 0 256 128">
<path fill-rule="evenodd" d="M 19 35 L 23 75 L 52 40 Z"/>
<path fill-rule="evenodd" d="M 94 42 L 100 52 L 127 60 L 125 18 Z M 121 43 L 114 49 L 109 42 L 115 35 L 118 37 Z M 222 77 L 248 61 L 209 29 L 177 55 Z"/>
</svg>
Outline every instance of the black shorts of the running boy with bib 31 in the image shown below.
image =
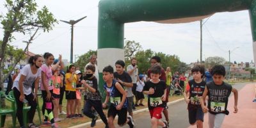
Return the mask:
<svg viewBox="0 0 256 128">
<path fill-rule="evenodd" d="M 118 125 L 124 125 L 127 120 L 127 108 L 116 110 L 116 107 L 111 104 L 108 109 L 108 117 L 113 116 L 115 119 L 116 114 L 118 115 Z"/>
</svg>

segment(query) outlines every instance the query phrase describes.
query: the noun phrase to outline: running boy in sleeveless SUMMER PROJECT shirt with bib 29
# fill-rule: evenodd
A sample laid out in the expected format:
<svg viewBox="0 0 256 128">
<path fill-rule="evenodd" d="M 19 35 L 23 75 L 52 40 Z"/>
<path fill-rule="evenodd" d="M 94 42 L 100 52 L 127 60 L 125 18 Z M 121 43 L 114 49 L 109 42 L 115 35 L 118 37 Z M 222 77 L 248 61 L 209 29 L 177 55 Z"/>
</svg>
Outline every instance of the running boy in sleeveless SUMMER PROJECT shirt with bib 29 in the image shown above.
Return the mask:
<svg viewBox="0 0 256 128">
<path fill-rule="evenodd" d="M 206 84 L 202 99 L 201 106 L 204 113 L 209 111 L 209 128 L 219 128 L 221 127 L 225 115 L 229 114 L 227 110 L 228 97 L 231 92 L 234 93 L 234 113 L 237 113 L 237 99 L 238 92 L 236 88 L 228 83 L 225 83 L 225 67 L 222 65 L 215 65 L 212 67 L 211 75 L 213 81 Z M 208 106 L 205 106 L 205 97 L 208 95 Z"/>
</svg>

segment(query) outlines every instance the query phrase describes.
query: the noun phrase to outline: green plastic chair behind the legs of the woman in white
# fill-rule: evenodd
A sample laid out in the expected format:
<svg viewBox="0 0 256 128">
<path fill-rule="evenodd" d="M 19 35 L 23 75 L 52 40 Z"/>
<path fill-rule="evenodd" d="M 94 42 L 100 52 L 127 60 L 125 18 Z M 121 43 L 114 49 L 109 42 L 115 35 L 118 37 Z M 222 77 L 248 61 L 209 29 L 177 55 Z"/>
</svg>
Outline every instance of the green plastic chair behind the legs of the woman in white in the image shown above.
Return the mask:
<svg viewBox="0 0 256 128">
<path fill-rule="evenodd" d="M 8 97 L 10 97 L 10 99 L 15 100 L 13 90 L 8 93 Z M 39 104 L 38 104 L 38 100 L 36 101 L 36 103 L 37 103 L 36 109 L 37 109 L 37 112 L 38 112 L 38 117 L 39 117 L 39 120 L 40 120 L 40 124 L 42 124 L 41 113 L 40 113 L 40 107 L 39 107 Z M 15 106 L 15 108 L 17 108 L 17 106 Z M 29 109 L 30 109 L 30 106 L 26 106 L 26 104 L 24 104 L 22 112 L 23 112 L 23 124 L 25 125 L 25 127 L 28 127 L 28 111 L 29 111 Z"/>
</svg>

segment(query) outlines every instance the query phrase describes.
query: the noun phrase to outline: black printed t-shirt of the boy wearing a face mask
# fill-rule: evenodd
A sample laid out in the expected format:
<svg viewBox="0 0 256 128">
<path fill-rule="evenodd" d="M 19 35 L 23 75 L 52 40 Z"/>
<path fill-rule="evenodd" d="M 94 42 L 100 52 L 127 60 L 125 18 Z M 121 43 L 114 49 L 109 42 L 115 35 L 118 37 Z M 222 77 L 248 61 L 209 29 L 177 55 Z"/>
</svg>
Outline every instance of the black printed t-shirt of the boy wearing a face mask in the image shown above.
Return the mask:
<svg viewBox="0 0 256 128">
<path fill-rule="evenodd" d="M 100 96 L 100 92 L 98 90 L 98 83 L 97 83 L 97 78 L 95 76 L 93 76 L 92 78 L 86 78 L 84 79 L 86 81 L 87 84 L 89 84 L 89 86 L 91 86 L 92 88 L 94 88 L 96 90 L 95 93 L 90 92 L 89 89 L 88 92 L 86 92 L 86 99 L 90 99 L 90 100 L 101 100 L 101 96 Z"/>
</svg>

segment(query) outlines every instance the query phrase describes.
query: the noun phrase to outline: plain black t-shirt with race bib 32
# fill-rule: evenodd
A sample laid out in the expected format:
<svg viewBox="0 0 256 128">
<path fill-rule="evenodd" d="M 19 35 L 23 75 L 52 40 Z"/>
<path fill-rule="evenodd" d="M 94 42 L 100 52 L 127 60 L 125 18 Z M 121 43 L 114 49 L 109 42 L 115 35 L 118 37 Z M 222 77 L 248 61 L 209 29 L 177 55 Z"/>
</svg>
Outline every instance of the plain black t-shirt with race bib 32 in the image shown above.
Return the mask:
<svg viewBox="0 0 256 128">
<path fill-rule="evenodd" d="M 149 88 L 153 88 L 155 92 L 148 95 L 148 109 L 154 109 L 156 107 L 164 108 L 165 104 L 161 100 L 161 97 L 164 95 L 166 83 L 164 81 L 159 81 L 159 83 L 152 83 L 151 81 L 147 81 L 143 87 L 143 91 L 148 91 Z"/>
</svg>

